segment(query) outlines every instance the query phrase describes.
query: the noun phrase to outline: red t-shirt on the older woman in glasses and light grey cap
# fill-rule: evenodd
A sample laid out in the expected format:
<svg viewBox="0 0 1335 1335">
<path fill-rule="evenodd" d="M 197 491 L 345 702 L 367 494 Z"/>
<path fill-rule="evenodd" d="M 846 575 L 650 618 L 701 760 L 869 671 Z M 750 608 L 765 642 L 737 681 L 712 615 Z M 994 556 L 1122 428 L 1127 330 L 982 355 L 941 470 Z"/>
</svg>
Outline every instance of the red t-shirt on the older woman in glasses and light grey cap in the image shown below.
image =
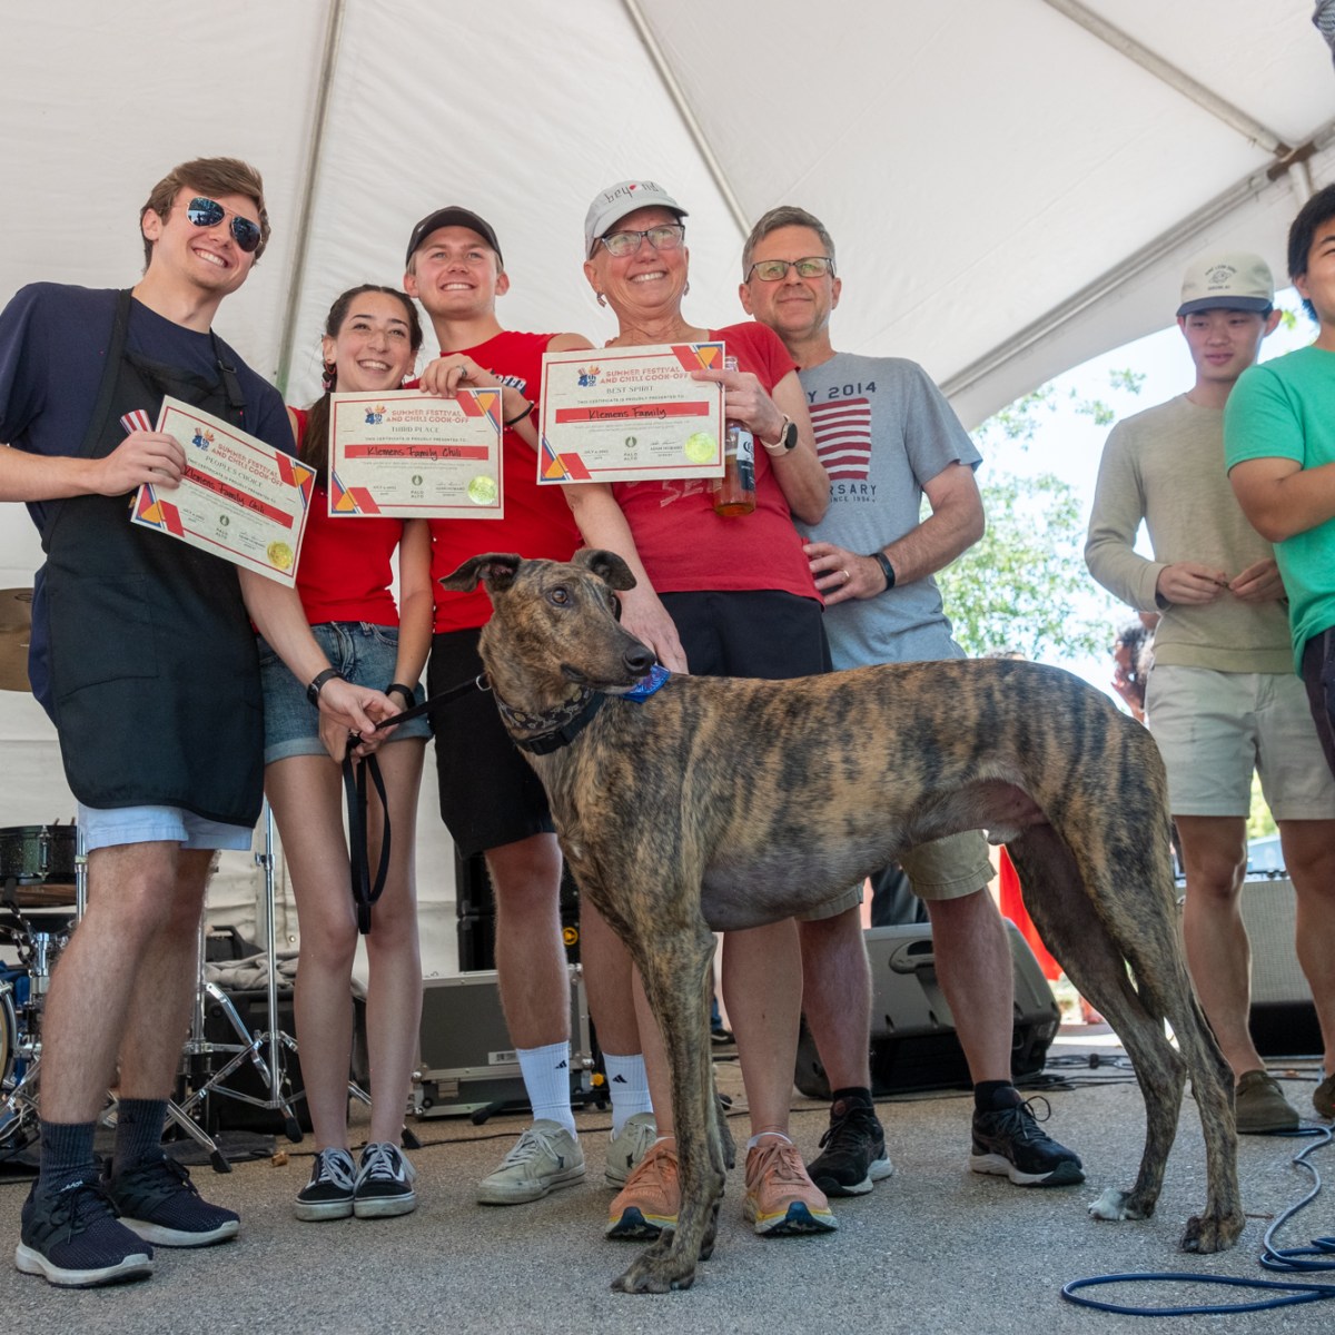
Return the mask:
<svg viewBox="0 0 1335 1335">
<path fill-rule="evenodd" d="M 758 376 L 766 391 L 796 370 L 782 340 L 764 324 L 729 324 L 709 336 L 721 339 L 738 367 Z M 750 514 L 730 519 L 714 514 L 709 487 L 709 478 L 613 483 L 654 589 L 780 589 L 818 601 L 792 511 L 758 443 Z"/>
</svg>

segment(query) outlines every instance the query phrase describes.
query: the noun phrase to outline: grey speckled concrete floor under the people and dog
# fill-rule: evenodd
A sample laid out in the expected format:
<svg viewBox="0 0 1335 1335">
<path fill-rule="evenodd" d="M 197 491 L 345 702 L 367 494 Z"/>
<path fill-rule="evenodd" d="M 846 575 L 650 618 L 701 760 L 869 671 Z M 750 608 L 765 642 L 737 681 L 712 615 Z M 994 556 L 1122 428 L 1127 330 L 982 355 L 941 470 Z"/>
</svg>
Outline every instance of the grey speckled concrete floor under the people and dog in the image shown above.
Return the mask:
<svg viewBox="0 0 1335 1335">
<path fill-rule="evenodd" d="M 1097 1052 L 1100 1064 L 1089 1065 Z M 1140 1155 L 1143 1112 L 1111 1037 L 1073 1027 L 1049 1053 L 1049 1131 L 1084 1157 L 1088 1181 L 1025 1191 L 968 1172 L 971 1101 L 963 1092 L 901 1096 L 880 1105 L 896 1175 L 869 1196 L 837 1200 L 840 1231 L 765 1240 L 741 1218 L 741 1169 L 728 1183 L 718 1246 L 689 1292 L 611 1294 L 609 1283 L 637 1244 L 601 1236 L 611 1192 L 602 1184 L 607 1113 L 578 1115 L 589 1177 L 529 1206 L 474 1203 L 477 1180 L 522 1129 L 522 1117 L 413 1123 L 423 1147 L 421 1208 L 391 1220 L 299 1224 L 291 1200 L 310 1173 L 311 1143 L 282 1141 L 279 1155 L 242 1163 L 227 1175 L 194 1171 L 206 1196 L 242 1212 L 242 1235 L 207 1251 L 158 1251 L 146 1283 L 57 1291 L 0 1268 L 0 1311 L 16 1335 L 258 1331 L 376 1331 L 450 1335 L 495 1331 L 870 1331 L 928 1332 L 1199 1332 L 1195 1318 L 1133 1316 L 1080 1310 L 1061 1286 L 1076 1278 L 1152 1270 L 1266 1278 L 1258 1263 L 1270 1220 L 1310 1187 L 1290 1157 L 1306 1145 L 1243 1137 L 1240 1172 L 1248 1214 L 1239 1246 L 1222 1256 L 1176 1250 L 1189 1214 L 1204 1199 L 1199 1123 L 1188 1097 L 1159 1211 L 1144 1223 L 1104 1224 L 1085 1206 L 1104 1187 L 1129 1185 Z M 1294 1101 L 1310 1112 L 1316 1069 L 1280 1067 Z M 720 1087 L 736 1099 L 733 1131 L 748 1133 L 736 1063 L 718 1064 Z M 824 1105 L 794 1095 L 793 1135 L 813 1155 L 826 1123 Z M 1318 1156 L 1327 1177 L 1335 1155 Z M 0 1235 L 19 1232 L 27 1183 L 0 1179 Z M 1335 1234 L 1335 1206 L 1318 1197 L 1280 1239 L 1300 1246 Z M 1335 1279 L 1332 1279 L 1335 1284 Z M 1224 1291 L 1207 1291 L 1220 1300 Z M 1227 1291 L 1236 1300 L 1239 1291 Z M 1151 1292 L 1117 1287 L 1100 1296 L 1149 1302 Z M 1183 1302 L 1175 1288 L 1159 1302 Z M 1218 1331 L 1328 1331 L 1330 1304 L 1212 1319 Z"/>
</svg>

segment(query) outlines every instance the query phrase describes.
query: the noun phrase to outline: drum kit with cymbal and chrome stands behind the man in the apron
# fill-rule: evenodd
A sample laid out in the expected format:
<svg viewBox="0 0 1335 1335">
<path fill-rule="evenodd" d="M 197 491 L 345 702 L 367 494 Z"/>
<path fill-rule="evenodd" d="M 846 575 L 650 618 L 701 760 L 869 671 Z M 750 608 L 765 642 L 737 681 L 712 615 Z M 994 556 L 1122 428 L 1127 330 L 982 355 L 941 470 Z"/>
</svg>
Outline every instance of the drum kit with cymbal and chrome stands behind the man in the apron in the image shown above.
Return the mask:
<svg viewBox="0 0 1335 1335">
<path fill-rule="evenodd" d="M 0 690 L 31 689 L 27 668 L 31 605 L 31 589 L 0 590 Z M 276 1109 L 288 1139 L 302 1139 L 284 1068 L 284 1053 L 295 1053 L 296 1044 L 275 1024 L 274 829 L 267 805 L 264 833 L 264 850 L 255 854 L 255 861 L 264 869 L 271 1028 L 247 1031 L 227 993 L 206 980 L 207 932 L 202 921 L 194 1016 L 182 1055 L 180 1101 L 172 1100 L 167 1108 L 170 1124 L 198 1141 L 218 1172 L 230 1172 L 231 1165 L 204 1129 L 210 1095 Z M 16 1157 L 39 1136 L 41 1020 L 52 969 L 84 916 L 87 862 L 75 822 L 0 829 L 0 1161 Z M 226 1017 L 235 1043 L 212 1043 L 206 1037 L 208 1001 Z M 215 1069 L 218 1055 L 226 1060 Z M 247 1061 L 259 1076 L 263 1099 L 226 1084 Z M 350 1092 L 370 1101 L 355 1087 Z M 109 1100 L 115 1103 L 115 1092 Z"/>
</svg>

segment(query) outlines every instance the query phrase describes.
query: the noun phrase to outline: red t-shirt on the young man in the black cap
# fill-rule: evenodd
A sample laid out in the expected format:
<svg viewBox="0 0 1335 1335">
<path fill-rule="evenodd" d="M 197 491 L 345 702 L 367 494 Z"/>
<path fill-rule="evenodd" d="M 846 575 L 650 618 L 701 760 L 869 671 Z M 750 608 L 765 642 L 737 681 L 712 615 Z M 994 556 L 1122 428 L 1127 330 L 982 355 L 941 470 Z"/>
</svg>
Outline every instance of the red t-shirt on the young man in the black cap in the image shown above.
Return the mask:
<svg viewBox="0 0 1335 1335">
<path fill-rule="evenodd" d="M 542 386 L 542 354 L 554 334 L 502 330 L 477 347 L 454 348 L 514 386 L 531 403 Z M 442 351 L 442 356 L 449 354 Z M 581 545 L 570 506 L 561 487 L 538 486 L 538 457 L 514 431 L 501 442 L 503 519 L 431 519 L 431 587 L 435 590 L 435 630 L 473 630 L 491 618 L 485 590 L 449 593 L 437 583 L 485 551 L 517 551 L 530 559 L 569 561 Z"/>
</svg>

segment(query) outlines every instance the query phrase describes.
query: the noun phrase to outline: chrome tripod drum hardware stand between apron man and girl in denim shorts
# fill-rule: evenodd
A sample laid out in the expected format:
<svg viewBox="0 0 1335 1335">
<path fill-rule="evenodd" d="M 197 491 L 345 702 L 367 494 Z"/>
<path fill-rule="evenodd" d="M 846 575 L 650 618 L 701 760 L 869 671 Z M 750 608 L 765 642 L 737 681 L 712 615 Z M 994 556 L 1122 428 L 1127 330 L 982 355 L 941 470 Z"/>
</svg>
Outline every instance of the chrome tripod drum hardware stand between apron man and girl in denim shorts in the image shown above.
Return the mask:
<svg viewBox="0 0 1335 1335">
<path fill-rule="evenodd" d="M 296 1040 L 284 1033 L 278 1028 L 278 934 L 274 924 L 274 812 L 268 802 L 264 802 L 264 852 L 255 854 L 256 866 L 264 868 L 264 951 L 268 956 L 268 980 L 267 980 L 267 1005 L 268 1005 L 268 1029 L 256 1029 L 254 1033 L 248 1033 L 246 1025 L 242 1023 L 242 1017 L 236 1013 L 236 1007 L 232 1005 L 231 997 L 218 987 L 216 983 L 204 981 L 204 932 L 203 924 L 200 924 L 200 939 L 199 939 L 199 979 L 200 987 L 196 993 L 195 1003 L 195 1017 L 192 1024 L 191 1039 L 186 1045 L 188 1055 L 200 1055 L 204 1057 L 206 1069 L 204 1075 L 207 1079 L 203 1084 L 195 1088 L 190 1097 L 187 1097 L 182 1105 L 180 1111 L 187 1115 L 187 1120 L 191 1125 L 195 1125 L 192 1117 L 190 1116 L 196 1105 L 202 1104 L 211 1093 L 222 1095 L 228 1099 L 236 1099 L 240 1103 L 248 1103 L 251 1107 L 263 1108 L 266 1111 L 279 1109 L 283 1113 L 283 1131 L 288 1140 L 294 1144 L 302 1140 L 302 1127 L 296 1120 L 296 1115 L 292 1112 L 292 1100 L 288 1097 L 287 1091 L 290 1089 L 290 1081 L 287 1076 L 286 1063 L 283 1060 L 284 1052 L 291 1052 L 296 1055 Z M 239 1044 L 214 1044 L 204 1039 L 204 996 L 211 997 L 212 1001 L 222 1009 L 223 1016 L 231 1024 L 234 1032 L 240 1040 Z M 214 1052 L 231 1052 L 232 1057 L 222 1069 L 218 1072 L 211 1072 L 208 1065 L 208 1057 Z M 262 1056 L 262 1052 L 264 1056 Z M 254 1095 L 248 1095 L 240 1089 L 227 1088 L 227 1079 L 236 1071 L 247 1059 L 255 1067 L 255 1072 L 259 1076 L 260 1084 L 268 1091 L 267 1099 L 256 1099 Z M 371 1096 L 360 1088 L 355 1081 L 348 1080 L 347 1084 L 348 1093 L 354 1099 L 359 1099 L 362 1103 L 370 1105 Z M 304 1091 L 298 1093 L 299 1099 L 306 1097 Z"/>
</svg>

